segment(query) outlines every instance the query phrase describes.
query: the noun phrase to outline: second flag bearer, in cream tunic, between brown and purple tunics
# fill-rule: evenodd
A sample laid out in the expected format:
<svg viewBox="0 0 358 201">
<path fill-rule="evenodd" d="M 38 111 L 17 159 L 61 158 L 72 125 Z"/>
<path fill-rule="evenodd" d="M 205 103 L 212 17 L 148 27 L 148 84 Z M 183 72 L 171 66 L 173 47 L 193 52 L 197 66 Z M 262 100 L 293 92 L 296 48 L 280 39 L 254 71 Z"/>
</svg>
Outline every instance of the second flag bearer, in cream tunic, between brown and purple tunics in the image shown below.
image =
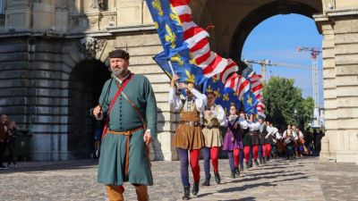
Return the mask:
<svg viewBox="0 0 358 201">
<path fill-rule="evenodd" d="M 214 176 L 217 184 L 220 183 L 218 173 L 218 151 L 223 144 L 220 134 L 220 126 L 225 126 L 225 111 L 221 105 L 216 105 L 216 95 L 213 92 L 207 93 L 208 106 L 204 111 L 202 134 L 204 136 L 205 146 L 202 148 L 204 154 L 205 180 L 203 186 L 210 185 L 210 158 L 214 169 Z"/>
</svg>

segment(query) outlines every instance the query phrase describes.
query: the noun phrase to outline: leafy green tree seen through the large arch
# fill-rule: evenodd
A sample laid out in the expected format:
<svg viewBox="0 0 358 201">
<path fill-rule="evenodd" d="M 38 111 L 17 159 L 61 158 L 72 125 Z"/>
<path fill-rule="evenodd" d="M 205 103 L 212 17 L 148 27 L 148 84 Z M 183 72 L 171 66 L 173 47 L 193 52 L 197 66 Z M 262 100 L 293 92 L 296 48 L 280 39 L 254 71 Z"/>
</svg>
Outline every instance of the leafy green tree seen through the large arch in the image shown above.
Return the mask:
<svg viewBox="0 0 358 201">
<path fill-rule="evenodd" d="M 303 99 L 301 88 L 294 87 L 294 80 L 272 77 L 263 91 L 266 115 L 277 127 L 287 124 L 305 128 L 311 121 L 313 99 Z"/>
</svg>

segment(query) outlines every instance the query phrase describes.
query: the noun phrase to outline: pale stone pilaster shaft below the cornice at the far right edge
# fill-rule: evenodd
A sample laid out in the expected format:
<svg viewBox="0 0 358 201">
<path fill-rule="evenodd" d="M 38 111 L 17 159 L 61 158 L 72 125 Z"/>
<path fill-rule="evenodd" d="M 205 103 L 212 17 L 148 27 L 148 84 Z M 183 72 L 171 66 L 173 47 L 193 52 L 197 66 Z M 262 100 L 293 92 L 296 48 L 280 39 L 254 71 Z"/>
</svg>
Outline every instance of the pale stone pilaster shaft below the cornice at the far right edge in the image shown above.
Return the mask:
<svg viewBox="0 0 358 201">
<path fill-rule="evenodd" d="M 335 18 L 337 162 L 355 162 L 358 150 L 358 9 L 330 15 Z"/>
</svg>

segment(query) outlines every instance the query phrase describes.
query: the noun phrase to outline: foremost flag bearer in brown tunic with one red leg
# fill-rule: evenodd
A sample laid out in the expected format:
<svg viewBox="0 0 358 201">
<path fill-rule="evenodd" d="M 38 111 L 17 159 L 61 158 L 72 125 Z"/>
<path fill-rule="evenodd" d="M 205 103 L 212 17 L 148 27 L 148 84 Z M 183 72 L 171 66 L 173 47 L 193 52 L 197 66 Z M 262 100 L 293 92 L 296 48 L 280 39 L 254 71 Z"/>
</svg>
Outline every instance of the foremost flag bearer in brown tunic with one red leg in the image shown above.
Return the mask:
<svg viewBox="0 0 358 201">
<path fill-rule="evenodd" d="M 204 138 L 200 127 L 200 113 L 205 110 L 207 105 L 207 96 L 201 94 L 195 89 L 193 83 L 179 83 L 179 89 L 186 90 L 185 100 L 175 95 L 175 82 L 179 76 L 173 76 L 169 90 L 169 104 L 174 106 L 177 112 L 180 112 L 179 126 L 175 130 L 173 146 L 180 159 L 180 173 L 183 182 L 184 195 L 183 200 L 190 199 L 190 182 L 189 182 L 189 159 L 192 167 L 192 177 L 194 180 L 192 186 L 192 195 L 196 196 L 199 192 L 200 166 L 199 157 L 200 149 L 204 147 Z"/>
</svg>

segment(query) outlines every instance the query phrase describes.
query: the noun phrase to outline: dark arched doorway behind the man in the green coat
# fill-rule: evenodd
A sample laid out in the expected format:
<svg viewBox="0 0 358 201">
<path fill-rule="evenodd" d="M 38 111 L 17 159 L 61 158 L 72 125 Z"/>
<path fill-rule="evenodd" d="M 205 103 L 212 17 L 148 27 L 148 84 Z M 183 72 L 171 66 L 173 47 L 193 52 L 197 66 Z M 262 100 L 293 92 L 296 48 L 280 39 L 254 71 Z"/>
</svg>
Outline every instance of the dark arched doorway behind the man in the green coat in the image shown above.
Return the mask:
<svg viewBox="0 0 358 201">
<path fill-rule="evenodd" d="M 94 120 L 90 108 L 110 78 L 107 65 L 95 59 L 83 60 L 73 68 L 69 81 L 69 128 L 67 147 L 73 158 L 89 158 L 93 150 Z"/>
</svg>

